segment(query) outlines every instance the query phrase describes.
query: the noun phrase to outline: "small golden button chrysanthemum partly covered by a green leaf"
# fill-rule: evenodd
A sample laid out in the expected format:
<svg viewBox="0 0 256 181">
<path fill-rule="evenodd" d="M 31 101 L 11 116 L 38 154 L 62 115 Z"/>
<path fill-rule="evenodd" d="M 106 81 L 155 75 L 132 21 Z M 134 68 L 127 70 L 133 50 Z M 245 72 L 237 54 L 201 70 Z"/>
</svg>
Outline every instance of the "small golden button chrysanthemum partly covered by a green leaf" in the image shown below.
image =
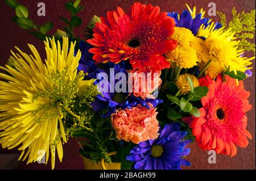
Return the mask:
<svg viewBox="0 0 256 181">
<path fill-rule="evenodd" d="M 190 87 L 189 87 L 188 79 L 187 79 L 188 77 L 190 77 L 192 79 L 194 87 L 199 86 L 199 82 L 194 75 L 191 75 L 191 74 L 179 75 L 179 77 L 177 78 L 177 81 L 175 83 L 176 83 L 177 87 L 179 88 L 181 95 L 188 94 L 188 92 L 191 91 Z"/>
</svg>

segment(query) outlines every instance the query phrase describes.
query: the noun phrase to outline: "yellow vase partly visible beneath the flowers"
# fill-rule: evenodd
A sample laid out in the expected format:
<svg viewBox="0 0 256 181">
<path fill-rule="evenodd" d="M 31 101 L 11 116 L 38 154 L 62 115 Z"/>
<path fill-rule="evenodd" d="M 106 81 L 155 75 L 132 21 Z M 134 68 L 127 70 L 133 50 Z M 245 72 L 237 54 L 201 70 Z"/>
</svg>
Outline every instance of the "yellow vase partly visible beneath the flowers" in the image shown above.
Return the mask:
<svg viewBox="0 0 256 181">
<path fill-rule="evenodd" d="M 114 155 L 116 152 L 111 152 L 108 155 Z M 120 162 L 112 162 L 110 164 L 104 162 L 104 159 L 101 159 L 101 162 L 92 162 L 91 159 L 82 157 L 84 161 L 85 170 L 121 170 Z"/>
</svg>

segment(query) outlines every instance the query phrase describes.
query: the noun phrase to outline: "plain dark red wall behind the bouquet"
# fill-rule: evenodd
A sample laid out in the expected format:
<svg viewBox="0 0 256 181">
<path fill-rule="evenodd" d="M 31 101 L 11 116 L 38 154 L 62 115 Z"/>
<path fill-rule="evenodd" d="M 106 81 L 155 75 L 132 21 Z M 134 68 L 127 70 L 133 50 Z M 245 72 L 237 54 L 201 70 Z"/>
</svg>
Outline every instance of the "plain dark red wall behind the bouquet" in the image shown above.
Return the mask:
<svg viewBox="0 0 256 181">
<path fill-rule="evenodd" d="M 57 28 L 64 26 L 64 23 L 58 18 L 59 15 L 68 18 L 68 11 L 64 8 L 64 2 L 61 0 L 17 0 L 19 3 L 25 5 L 30 15 L 29 17 L 34 20 L 36 24 L 43 24 L 47 21 L 53 22 L 53 29 L 51 33 L 54 33 Z M 46 4 L 46 16 L 37 15 L 37 4 L 39 2 L 44 2 Z M 82 0 L 82 5 L 84 5 L 84 10 L 79 13 L 82 18 L 82 26 L 77 28 L 75 31 L 81 38 L 83 35 L 83 28 L 89 22 L 90 18 L 94 14 L 98 16 L 105 16 L 107 11 L 114 10 L 117 6 L 122 7 L 127 10 L 127 8 L 135 1 L 129 0 L 94 0 L 85 1 Z M 197 11 L 200 8 L 204 8 L 208 11 L 208 3 L 216 3 L 217 11 L 225 12 L 227 18 L 232 17 L 232 8 L 236 7 L 238 12 L 244 10 L 249 12 L 251 9 L 255 9 L 254 0 L 246 1 L 223 1 L 223 0 L 205 0 L 205 1 L 184 1 L 184 0 L 147 0 L 140 1 L 143 3 L 152 3 L 152 5 L 160 6 L 163 11 L 178 11 L 185 9 L 185 3 L 188 3 L 190 7 L 196 6 Z M 39 52 L 44 52 L 43 43 L 36 39 L 32 35 L 28 35 L 27 32 L 19 28 L 10 19 L 15 16 L 14 10 L 10 9 L 5 5 L 3 1 L 0 1 L 0 17 L 1 17 L 1 28 L 0 28 L 0 60 L 1 65 L 6 64 L 8 57 L 10 56 L 10 50 L 14 49 L 14 46 L 19 47 L 25 52 L 28 52 L 27 43 L 34 44 L 38 48 Z M 206 12 L 207 16 L 207 12 Z M 219 20 L 218 17 L 210 17 L 214 20 Z M 251 53 L 246 54 L 247 56 L 252 56 Z M 253 134 L 253 140 L 249 141 L 249 146 L 246 149 L 238 148 L 236 157 L 229 158 L 227 155 L 217 155 L 217 163 L 208 163 L 208 154 L 199 149 L 196 143 L 193 143 L 191 148 L 191 153 L 188 155 L 187 159 L 191 161 L 191 167 L 184 167 L 183 169 L 255 169 L 255 62 L 253 61 L 253 77 L 246 79 L 245 89 L 251 92 L 249 98 L 250 103 L 253 108 L 247 113 L 248 116 L 248 126 L 247 129 Z M 0 150 L 1 151 L 1 150 Z M 8 152 L 7 150 L 2 150 L 2 152 Z M 10 153 L 10 152 L 9 152 Z M 0 161 L 1 162 L 1 161 Z M 34 163 L 32 165 L 26 166 L 25 163 L 19 164 L 19 169 L 49 169 L 50 164 L 47 166 L 43 164 Z M 56 161 L 55 169 L 83 169 L 82 160 L 79 155 L 79 146 L 75 140 L 70 140 L 68 144 L 64 145 L 64 159 L 63 163 Z"/>
</svg>

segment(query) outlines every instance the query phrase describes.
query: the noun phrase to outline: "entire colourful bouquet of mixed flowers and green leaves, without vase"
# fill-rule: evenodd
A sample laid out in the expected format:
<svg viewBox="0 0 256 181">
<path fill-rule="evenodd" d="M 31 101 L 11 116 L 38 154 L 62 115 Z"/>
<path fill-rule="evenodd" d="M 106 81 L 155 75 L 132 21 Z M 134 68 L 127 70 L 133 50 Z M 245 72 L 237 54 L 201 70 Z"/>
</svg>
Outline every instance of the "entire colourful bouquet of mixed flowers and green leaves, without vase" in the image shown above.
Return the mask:
<svg viewBox="0 0 256 181">
<path fill-rule="evenodd" d="M 14 21 L 44 41 L 46 58 L 28 44 L 0 67 L 0 144 L 18 148 L 19 159 L 36 162 L 77 137 L 80 154 L 94 165 L 118 169 L 181 169 L 196 141 L 203 150 L 233 157 L 252 138 L 246 129 L 255 10 L 227 24 L 205 18 L 196 7 L 162 12 L 134 3 L 94 16 L 81 40 L 73 33 L 80 1 L 65 3 L 67 27 L 48 35 L 52 23 L 36 25 L 15 0 Z M 192 150 L 193 151 L 193 150 Z"/>
</svg>

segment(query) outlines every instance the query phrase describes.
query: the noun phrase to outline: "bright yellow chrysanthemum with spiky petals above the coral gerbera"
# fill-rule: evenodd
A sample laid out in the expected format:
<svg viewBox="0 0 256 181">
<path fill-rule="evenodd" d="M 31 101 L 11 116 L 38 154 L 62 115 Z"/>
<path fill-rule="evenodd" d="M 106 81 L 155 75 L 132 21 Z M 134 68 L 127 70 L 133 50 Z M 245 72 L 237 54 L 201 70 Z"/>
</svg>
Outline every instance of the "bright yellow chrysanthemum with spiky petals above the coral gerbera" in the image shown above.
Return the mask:
<svg viewBox="0 0 256 181">
<path fill-rule="evenodd" d="M 202 42 L 205 50 L 199 53 L 203 64 L 201 68 L 209 60 L 210 62 L 208 69 L 205 71 L 205 74 L 209 75 L 211 78 L 216 77 L 218 73 L 226 70 L 230 66 L 230 71 L 243 71 L 251 69 L 247 66 L 251 65 L 251 60 L 255 57 L 247 58 L 242 57 L 244 53 L 243 50 L 238 50 L 236 45 L 239 41 L 234 39 L 234 33 L 231 33 L 230 30 L 224 31 L 223 28 L 214 30 L 216 25 L 214 23 L 210 24 L 207 28 L 202 25 L 197 33 L 197 36 L 205 37 L 205 41 Z M 214 64 L 214 65 L 213 65 Z"/>
</svg>

